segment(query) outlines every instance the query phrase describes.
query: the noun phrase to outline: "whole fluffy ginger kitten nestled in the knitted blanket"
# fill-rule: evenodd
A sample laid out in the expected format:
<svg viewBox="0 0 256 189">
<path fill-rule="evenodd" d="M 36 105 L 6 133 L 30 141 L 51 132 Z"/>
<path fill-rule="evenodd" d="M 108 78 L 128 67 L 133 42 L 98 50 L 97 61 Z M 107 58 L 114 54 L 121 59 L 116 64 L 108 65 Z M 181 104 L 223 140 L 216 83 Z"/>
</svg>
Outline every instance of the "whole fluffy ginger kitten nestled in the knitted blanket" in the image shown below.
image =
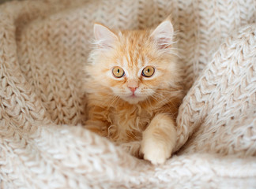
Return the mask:
<svg viewBox="0 0 256 189">
<path fill-rule="evenodd" d="M 139 142 L 155 165 L 171 156 L 183 98 L 173 34 L 170 20 L 141 31 L 94 24 L 95 48 L 85 66 L 86 128 L 115 143 Z"/>
</svg>

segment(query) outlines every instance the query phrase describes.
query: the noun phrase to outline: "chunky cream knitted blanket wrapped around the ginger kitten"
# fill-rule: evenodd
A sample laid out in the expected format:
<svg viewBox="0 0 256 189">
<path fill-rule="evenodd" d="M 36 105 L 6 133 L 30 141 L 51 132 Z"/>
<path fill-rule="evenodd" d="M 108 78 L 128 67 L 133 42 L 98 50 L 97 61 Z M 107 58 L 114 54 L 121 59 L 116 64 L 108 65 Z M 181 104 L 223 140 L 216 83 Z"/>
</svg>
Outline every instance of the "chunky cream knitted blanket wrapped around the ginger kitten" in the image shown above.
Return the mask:
<svg viewBox="0 0 256 189">
<path fill-rule="evenodd" d="M 153 166 L 82 127 L 92 24 L 172 14 L 187 95 L 177 153 Z M 1 188 L 255 188 L 256 2 L 19 1 L 0 6 Z"/>
</svg>

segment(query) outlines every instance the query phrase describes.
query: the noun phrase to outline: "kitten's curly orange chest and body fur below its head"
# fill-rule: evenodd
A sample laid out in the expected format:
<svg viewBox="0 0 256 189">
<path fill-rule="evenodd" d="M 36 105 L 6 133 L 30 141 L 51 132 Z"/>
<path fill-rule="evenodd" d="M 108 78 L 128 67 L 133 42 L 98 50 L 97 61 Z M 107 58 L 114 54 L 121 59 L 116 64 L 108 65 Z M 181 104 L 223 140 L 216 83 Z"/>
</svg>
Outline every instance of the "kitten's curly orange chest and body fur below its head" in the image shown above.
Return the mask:
<svg viewBox="0 0 256 189">
<path fill-rule="evenodd" d="M 175 96 L 168 100 L 149 98 L 145 102 L 134 105 L 120 98 L 111 102 L 103 96 L 107 94 L 88 95 L 87 125 L 92 125 L 96 130 L 99 129 L 100 135 L 122 143 L 141 140 L 142 132 L 157 113 L 166 113 L 175 120 L 180 102 L 180 98 Z M 163 94 L 163 96 L 168 98 L 168 95 Z M 97 124 L 94 120 L 100 120 L 104 124 L 99 124 L 100 127 L 96 128 Z"/>
</svg>

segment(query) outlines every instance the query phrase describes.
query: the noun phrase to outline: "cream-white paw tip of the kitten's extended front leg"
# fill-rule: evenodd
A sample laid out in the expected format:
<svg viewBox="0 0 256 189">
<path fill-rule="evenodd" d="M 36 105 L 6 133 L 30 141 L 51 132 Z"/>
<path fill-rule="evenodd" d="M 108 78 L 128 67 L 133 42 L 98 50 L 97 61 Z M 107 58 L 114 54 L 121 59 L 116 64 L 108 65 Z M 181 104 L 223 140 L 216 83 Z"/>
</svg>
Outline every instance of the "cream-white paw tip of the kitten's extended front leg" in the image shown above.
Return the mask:
<svg viewBox="0 0 256 189">
<path fill-rule="evenodd" d="M 171 151 L 163 143 L 156 141 L 142 141 L 141 152 L 144 159 L 149 160 L 153 165 L 164 164 L 170 158 Z"/>
</svg>

